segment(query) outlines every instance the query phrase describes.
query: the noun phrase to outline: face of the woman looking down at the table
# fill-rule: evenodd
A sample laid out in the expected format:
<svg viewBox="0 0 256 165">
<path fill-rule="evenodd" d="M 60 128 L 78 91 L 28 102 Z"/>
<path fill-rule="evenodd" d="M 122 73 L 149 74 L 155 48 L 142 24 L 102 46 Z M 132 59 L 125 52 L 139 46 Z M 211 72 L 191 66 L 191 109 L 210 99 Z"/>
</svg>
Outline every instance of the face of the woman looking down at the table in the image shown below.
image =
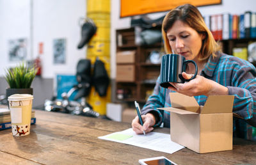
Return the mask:
<svg viewBox="0 0 256 165">
<path fill-rule="evenodd" d="M 195 29 L 180 20 L 176 20 L 166 35 L 175 54 L 180 54 L 187 60 L 197 59 L 196 57 L 202 47 L 203 36 L 199 35 Z"/>
</svg>

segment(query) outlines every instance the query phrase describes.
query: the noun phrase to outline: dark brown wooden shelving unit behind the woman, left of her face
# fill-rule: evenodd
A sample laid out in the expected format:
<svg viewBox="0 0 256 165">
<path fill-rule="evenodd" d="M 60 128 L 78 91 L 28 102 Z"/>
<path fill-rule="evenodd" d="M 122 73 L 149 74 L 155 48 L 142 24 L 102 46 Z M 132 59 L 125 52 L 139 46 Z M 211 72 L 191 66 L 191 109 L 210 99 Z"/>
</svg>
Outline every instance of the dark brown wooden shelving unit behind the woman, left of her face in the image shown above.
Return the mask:
<svg viewBox="0 0 256 165">
<path fill-rule="evenodd" d="M 161 29 L 161 27 L 157 28 Z M 148 56 L 152 51 L 163 51 L 161 42 L 154 45 L 138 46 L 135 45 L 134 40 L 134 28 L 116 30 L 116 52 L 136 51 L 134 63 L 117 63 L 117 65 L 133 65 L 135 68 L 134 81 L 116 81 L 116 93 L 119 92 L 119 95 L 123 93 L 122 99 L 116 97 L 117 102 L 134 102 L 134 100 L 145 102 L 147 95 L 154 89 L 156 79 L 160 73 L 160 63 L 150 63 Z"/>
</svg>

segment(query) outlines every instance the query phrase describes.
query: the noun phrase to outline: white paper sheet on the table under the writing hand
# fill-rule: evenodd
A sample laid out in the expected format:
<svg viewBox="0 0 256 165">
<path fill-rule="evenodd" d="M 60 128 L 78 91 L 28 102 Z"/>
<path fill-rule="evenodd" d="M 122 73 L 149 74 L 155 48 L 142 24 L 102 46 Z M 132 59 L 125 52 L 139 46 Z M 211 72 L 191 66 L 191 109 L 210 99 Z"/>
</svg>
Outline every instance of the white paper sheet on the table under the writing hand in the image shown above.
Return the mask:
<svg viewBox="0 0 256 165">
<path fill-rule="evenodd" d="M 118 139 L 108 138 L 113 134 L 126 134 L 132 135 L 132 137 L 122 141 Z M 170 134 L 149 132 L 146 134 L 146 136 L 144 136 L 143 134 L 136 134 L 132 129 L 123 130 L 121 132 L 114 132 L 106 136 L 100 136 L 99 139 L 115 141 L 127 145 L 140 146 L 142 148 L 148 148 L 150 150 L 156 150 L 166 153 L 174 153 L 184 148 L 184 146 L 174 143 L 170 138 Z"/>
</svg>

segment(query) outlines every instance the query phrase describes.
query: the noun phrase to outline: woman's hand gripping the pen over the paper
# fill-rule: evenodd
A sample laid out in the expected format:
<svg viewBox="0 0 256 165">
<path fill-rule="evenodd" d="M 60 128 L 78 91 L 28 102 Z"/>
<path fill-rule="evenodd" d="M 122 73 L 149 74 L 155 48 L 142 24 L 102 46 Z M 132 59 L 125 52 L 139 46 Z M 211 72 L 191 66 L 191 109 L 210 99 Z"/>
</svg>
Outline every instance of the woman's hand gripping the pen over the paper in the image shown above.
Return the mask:
<svg viewBox="0 0 256 165">
<path fill-rule="evenodd" d="M 144 122 L 143 126 L 140 124 L 138 116 L 132 120 L 132 129 L 134 132 L 136 132 L 136 134 L 143 134 L 143 130 L 145 130 L 146 133 L 152 131 L 154 129 L 153 125 L 156 123 L 154 115 L 147 113 L 145 115 L 141 115 L 141 118 Z"/>
</svg>

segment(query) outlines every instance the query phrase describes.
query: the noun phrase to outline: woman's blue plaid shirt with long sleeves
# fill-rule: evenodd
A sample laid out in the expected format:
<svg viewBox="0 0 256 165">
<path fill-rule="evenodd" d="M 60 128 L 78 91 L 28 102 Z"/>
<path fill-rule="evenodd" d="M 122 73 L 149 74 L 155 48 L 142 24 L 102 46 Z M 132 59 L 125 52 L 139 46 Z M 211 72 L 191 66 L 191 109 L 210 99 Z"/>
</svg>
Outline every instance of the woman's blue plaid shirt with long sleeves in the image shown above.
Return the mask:
<svg viewBox="0 0 256 165">
<path fill-rule="evenodd" d="M 208 59 L 205 68 L 200 75 L 207 79 L 228 88 L 228 95 L 234 95 L 233 113 L 234 117 L 234 137 L 256 140 L 256 129 L 247 123 L 256 125 L 256 69 L 255 67 L 240 58 L 218 53 L 218 56 Z M 163 123 L 164 127 L 170 127 L 170 113 L 158 110 L 158 107 L 171 107 L 169 93 L 174 92 L 159 86 L 157 79 L 154 92 L 141 110 L 142 114 L 148 112 L 156 116 L 157 123 L 154 127 L 159 127 Z M 204 106 L 207 97 L 205 95 L 195 96 L 200 106 Z M 242 120 L 243 119 L 243 120 Z M 245 122 L 246 121 L 246 122 Z"/>
</svg>

